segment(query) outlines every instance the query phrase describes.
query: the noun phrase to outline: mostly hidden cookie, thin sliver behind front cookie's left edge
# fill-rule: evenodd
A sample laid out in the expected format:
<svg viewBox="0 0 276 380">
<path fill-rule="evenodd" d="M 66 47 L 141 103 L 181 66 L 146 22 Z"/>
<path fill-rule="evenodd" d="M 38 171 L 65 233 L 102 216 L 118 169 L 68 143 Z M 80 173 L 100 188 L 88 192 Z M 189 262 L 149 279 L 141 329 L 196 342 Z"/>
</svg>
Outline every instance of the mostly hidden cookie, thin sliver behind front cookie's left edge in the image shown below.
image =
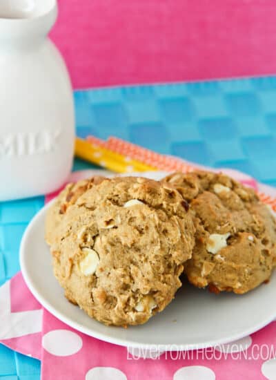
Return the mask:
<svg viewBox="0 0 276 380">
<path fill-rule="evenodd" d="M 57 229 L 68 207 L 70 207 L 70 205 L 74 205 L 76 200 L 86 190 L 91 189 L 94 184 L 101 183 L 104 179 L 105 177 L 102 177 L 101 175 L 95 175 L 87 180 L 81 180 L 77 183 L 69 183 L 59 193 L 59 196 L 57 196 L 54 204 L 50 207 L 46 216 L 45 240 L 49 245 L 55 242 Z"/>
</svg>

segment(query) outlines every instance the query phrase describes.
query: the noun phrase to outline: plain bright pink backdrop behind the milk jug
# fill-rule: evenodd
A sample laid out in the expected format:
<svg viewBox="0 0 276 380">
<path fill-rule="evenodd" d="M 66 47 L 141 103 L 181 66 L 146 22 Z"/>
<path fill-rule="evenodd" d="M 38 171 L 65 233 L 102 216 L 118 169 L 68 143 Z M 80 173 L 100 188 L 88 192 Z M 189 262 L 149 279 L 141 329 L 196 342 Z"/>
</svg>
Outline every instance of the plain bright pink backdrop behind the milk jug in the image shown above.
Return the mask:
<svg viewBox="0 0 276 380">
<path fill-rule="evenodd" d="M 73 86 L 276 73 L 275 0 L 59 0 Z"/>
</svg>

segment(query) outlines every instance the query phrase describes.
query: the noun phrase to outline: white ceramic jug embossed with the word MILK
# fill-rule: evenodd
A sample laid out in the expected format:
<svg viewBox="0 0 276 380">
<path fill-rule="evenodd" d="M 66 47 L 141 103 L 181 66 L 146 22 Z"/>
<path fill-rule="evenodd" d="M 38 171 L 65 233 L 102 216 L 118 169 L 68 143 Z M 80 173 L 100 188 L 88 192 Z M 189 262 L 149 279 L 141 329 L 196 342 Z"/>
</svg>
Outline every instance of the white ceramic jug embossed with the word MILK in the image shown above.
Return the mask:
<svg viewBox="0 0 276 380">
<path fill-rule="evenodd" d="M 0 201 L 54 191 L 72 167 L 72 88 L 47 38 L 56 17 L 56 0 L 0 0 Z"/>
</svg>

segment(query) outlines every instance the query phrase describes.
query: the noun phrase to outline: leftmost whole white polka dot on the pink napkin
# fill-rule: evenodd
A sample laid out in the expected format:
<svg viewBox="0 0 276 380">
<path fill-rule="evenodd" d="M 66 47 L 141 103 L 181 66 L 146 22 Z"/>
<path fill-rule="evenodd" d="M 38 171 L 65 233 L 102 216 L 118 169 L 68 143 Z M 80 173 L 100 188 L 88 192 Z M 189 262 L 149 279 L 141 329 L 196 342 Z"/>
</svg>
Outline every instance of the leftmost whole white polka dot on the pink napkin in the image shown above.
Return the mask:
<svg viewBox="0 0 276 380">
<path fill-rule="evenodd" d="M 52 355 L 67 357 L 81 350 L 82 339 L 70 330 L 52 330 L 43 336 L 42 345 Z"/>
</svg>

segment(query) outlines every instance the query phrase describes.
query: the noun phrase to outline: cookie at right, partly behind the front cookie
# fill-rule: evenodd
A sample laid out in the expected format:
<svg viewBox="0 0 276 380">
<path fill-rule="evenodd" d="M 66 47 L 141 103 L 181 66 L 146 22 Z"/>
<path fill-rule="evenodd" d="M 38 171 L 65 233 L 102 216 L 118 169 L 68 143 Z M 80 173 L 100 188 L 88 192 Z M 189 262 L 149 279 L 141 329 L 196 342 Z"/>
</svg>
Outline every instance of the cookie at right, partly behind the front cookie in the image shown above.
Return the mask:
<svg viewBox="0 0 276 380">
<path fill-rule="evenodd" d="M 253 189 L 222 173 L 173 173 L 163 180 L 189 202 L 196 228 L 190 283 L 243 294 L 269 280 L 276 265 L 275 218 Z"/>
</svg>

